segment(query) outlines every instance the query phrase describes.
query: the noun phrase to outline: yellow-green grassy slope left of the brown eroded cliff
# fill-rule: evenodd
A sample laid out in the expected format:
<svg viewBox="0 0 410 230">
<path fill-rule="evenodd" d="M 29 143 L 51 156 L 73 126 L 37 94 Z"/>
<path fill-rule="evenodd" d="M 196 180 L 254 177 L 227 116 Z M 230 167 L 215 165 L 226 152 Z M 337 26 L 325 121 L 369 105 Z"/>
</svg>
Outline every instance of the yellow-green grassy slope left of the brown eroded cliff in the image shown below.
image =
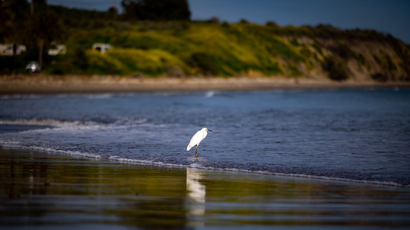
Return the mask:
<svg viewBox="0 0 410 230">
<path fill-rule="evenodd" d="M 162 23 L 147 24 L 162 26 Z M 289 61 L 304 61 L 297 47 L 269 34 L 269 31 L 259 28 L 260 25 L 178 24 L 181 23 L 169 23 L 170 29 L 146 29 L 143 24 L 119 31 L 110 27 L 70 29 L 66 41 L 68 56 L 60 57 L 59 63 L 65 68 L 59 71 L 77 72 L 82 69 L 90 74 L 141 72 L 156 76 L 180 69 L 190 75 L 229 76 L 255 70 L 272 75 L 283 72 L 279 54 Z M 249 32 L 252 29 L 258 32 Z M 115 48 L 99 54 L 90 49 L 93 43 L 110 43 Z M 84 66 L 77 68 L 75 65 L 80 64 L 78 59 L 69 56 L 80 57 Z"/>
</svg>

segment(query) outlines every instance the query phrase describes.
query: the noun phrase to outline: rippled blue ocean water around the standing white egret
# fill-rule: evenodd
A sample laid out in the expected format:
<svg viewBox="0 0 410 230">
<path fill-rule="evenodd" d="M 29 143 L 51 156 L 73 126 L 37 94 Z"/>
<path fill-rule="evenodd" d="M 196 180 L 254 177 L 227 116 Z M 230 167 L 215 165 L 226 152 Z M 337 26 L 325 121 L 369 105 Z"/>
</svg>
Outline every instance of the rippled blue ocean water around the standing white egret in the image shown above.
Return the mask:
<svg viewBox="0 0 410 230">
<path fill-rule="evenodd" d="M 410 90 L 3 95 L 3 147 L 410 184 Z M 50 127 L 52 126 L 52 127 Z M 196 131 L 213 132 L 187 151 Z"/>
</svg>

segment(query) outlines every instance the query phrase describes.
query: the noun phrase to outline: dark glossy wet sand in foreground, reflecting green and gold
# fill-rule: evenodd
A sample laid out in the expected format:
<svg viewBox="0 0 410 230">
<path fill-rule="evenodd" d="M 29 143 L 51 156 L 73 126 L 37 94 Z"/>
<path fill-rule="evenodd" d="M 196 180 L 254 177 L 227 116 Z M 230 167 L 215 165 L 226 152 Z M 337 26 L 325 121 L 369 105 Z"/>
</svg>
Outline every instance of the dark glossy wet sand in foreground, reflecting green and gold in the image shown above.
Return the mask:
<svg viewBox="0 0 410 230">
<path fill-rule="evenodd" d="M 410 189 L 0 148 L 0 228 L 407 229 Z M 338 228 L 337 228 L 338 227 Z"/>
</svg>

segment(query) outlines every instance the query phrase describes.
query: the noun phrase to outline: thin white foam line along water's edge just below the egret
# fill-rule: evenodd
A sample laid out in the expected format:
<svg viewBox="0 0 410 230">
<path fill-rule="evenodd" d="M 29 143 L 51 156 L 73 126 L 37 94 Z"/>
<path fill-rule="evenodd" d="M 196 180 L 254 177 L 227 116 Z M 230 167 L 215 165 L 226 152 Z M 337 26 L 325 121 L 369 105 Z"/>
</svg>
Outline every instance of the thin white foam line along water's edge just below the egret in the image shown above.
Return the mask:
<svg viewBox="0 0 410 230">
<path fill-rule="evenodd" d="M 89 157 L 89 158 L 103 158 L 100 155 L 96 155 L 96 154 L 93 154 L 93 153 L 81 153 L 79 151 L 56 150 L 56 149 L 36 147 L 36 146 L 30 146 L 30 147 L 20 146 L 20 145 L 18 145 L 18 142 L 0 142 L 0 147 L 34 149 L 34 150 L 40 150 L 40 151 L 46 151 L 46 152 L 65 153 L 65 154 L 69 154 L 69 155 L 84 156 L 84 157 Z M 305 178 L 314 178 L 314 179 L 323 179 L 323 180 L 338 180 L 338 181 L 365 183 L 365 184 L 375 184 L 375 185 L 410 187 L 410 185 L 401 185 L 399 183 L 395 183 L 395 182 L 392 182 L 392 181 L 355 180 L 355 179 L 347 179 L 347 178 L 337 178 L 337 177 L 328 177 L 328 176 L 313 176 L 313 175 L 305 175 L 305 174 L 285 174 L 285 173 L 274 173 L 274 172 L 268 172 L 268 171 L 251 171 L 251 170 L 246 170 L 246 169 L 235 169 L 235 168 L 214 168 L 214 167 L 201 166 L 201 165 L 198 165 L 196 163 L 193 163 L 191 165 L 177 165 L 177 164 L 163 163 L 161 161 L 154 162 L 152 160 L 135 160 L 135 159 L 130 159 L 130 158 L 121 158 L 119 156 L 110 156 L 110 157 L 105 158 L 105 159 L 124 161 L 124 162 L 137 162 L 137 163 L 143 163 L 143 164 L 148 164 L 148 165 L 198 168 L 198 169 L 223 170 L 223 171 L 239 171 L 239 172 L 246 172 L 246 173 L 267 174 L 267 175 L 276 175 L 276 176 L 296 176 L 296 177 L 305 177 Z"/>
</svg>

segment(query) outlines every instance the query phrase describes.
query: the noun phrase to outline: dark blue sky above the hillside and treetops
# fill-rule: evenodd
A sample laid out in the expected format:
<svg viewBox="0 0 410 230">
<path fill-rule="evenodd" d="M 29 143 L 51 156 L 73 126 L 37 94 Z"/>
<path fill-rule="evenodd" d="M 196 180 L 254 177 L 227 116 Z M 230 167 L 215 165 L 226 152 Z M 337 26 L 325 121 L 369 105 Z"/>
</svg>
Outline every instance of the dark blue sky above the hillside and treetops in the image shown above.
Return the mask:
<svg viewBox="0 0 410 230">
<path fill-rule="evenodd" d="M 107 10 L 115 0 L 47 0 L 48 4 Z M 118 6 L 121 0 L 116 0 Z M 330 24 L 340 28 L 376 29 L 410 43 L 410 0 L 189 0 L 192 19 L 213 16 L 264 24 Z M 121 9 L 120 9 L 121 10 Z"/>
</svg>

